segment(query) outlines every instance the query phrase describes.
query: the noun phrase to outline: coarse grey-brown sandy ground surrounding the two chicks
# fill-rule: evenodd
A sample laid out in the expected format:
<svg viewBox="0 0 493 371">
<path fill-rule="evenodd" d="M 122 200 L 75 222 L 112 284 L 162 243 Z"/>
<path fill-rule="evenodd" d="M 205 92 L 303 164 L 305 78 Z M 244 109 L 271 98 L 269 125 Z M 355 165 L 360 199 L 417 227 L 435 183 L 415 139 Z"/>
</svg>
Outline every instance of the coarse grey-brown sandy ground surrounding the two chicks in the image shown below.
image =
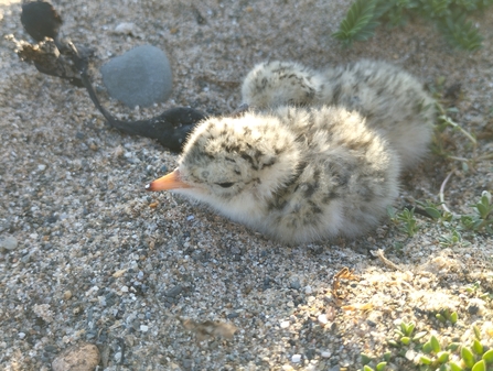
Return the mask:
<svg viewBox="0 0 493 371">
<path fill-rule="evenodd" d="M 425 23 L 379 28 L 371 41 L 341 48 L 330 34 L 350 1 L 193 3 L 54 6 L 62 33 L 95 48 L 93 79 L 122 119 L 174 106 L 231 112 L 243 77 L 261 61 L 322 68 L 368 57 L 428 85 L 440 77 L 446 88 L 461 84 L 453 119 L 479 134 L 478 154 L 493 151 L 491 11 L 478 19 L 484 48 L 463 53 Z M 356 241 L 287 248 L 180 197 L 148 194 L 144 184 L 178 157 L 152 140 L 108 129 L 84 89 L 20 62 L 4 37 L 29 40 L 20 3 L 1 1 L 0 14 L 0 237 L 18 241 L 0 252 L 0 369 L 49 370 L 62 350 L 86 341 L 103 354 L 99 370 L 356 370 L 362 352 L 379 358 L 390 349 L 386 340 L 403 320 L 444 345 L 470 345 L 476 325 L 493 346 L 491 299 L 482 296 L 493 290 L 491 236 L 464 232 L 470 245 L 443 247 L 439 237 L 451 228 L 418 216 L 412 238 L 386 220 Z M 114 33 L 121 22 L 133 22 L 138 35 Z M 167 51 L 173 94 L 163 105 L 130 110 L 108 98 L 98 68 L 146 43 Z M 460 133 L 448 139 L 454 155 L 474 155 Z M 493 190 L 492 163 L 464 171 L 432 154 L 404 176 L 395 207 L 438 203 L 452 171 L 447 205 L 471 212 L 482 190 Z M 377 249 L 396 265 L 375 258 Z M 337 299 L 333 277 L 343 268 L 358 280 L 343 280 Z M 464 288 L 474 283 L 475 291 Z M 453 327 L 435 318 L 446 308 L 458 312 Z M 192 321 L 183 326 L 178 316 Z M 226 336 L 202 337 L 205 325 Z M 415 368 L 395 350 L 390 363 Z"/>
</svg>

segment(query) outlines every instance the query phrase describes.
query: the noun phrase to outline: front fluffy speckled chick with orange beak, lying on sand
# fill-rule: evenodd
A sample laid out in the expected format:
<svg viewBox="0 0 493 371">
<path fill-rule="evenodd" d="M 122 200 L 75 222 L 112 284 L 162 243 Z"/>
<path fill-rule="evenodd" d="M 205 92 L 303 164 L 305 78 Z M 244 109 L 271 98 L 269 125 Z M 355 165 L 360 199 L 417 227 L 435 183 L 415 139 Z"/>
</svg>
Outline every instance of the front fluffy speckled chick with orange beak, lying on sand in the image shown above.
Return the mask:
<svg viewBox="0 0 493 371">
<path fill-rule="evenodd" d="M 278 107 L 205 120 L 161 178 L 175 184 L 158 179 L 148 189 L 174 188 L 288 243 L 353 238 L 397 196 L 396 159 L 357 112 Z"/>
</svg>

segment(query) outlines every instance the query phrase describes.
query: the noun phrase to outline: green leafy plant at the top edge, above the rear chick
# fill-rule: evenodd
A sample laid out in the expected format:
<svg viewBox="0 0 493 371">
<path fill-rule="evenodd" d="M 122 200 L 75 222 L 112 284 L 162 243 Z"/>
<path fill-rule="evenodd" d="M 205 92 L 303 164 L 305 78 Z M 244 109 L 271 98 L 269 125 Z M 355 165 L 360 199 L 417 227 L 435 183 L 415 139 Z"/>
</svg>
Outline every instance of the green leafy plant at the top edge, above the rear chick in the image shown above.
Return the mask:
<svg viewBox="0 0 493 371">
<path fill-rule="evenodd" d="M 396 26 L 420 18 L 432 22 L 451 45 L 475 51 L 483 37 L 467 17 L 491 4 L 493 0 L 356 0 L 332 35 L 351 45 L 372 37 L 382 22 Z"/>
</svg>

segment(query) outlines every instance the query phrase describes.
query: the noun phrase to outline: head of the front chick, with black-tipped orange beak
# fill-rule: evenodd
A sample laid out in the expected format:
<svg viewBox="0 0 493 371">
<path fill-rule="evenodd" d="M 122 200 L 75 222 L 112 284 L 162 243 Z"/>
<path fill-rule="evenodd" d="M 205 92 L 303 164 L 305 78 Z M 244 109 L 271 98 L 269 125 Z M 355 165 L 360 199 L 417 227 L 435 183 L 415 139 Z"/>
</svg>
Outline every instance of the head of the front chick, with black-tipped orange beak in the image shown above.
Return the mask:
<svg viewBox="0 0 493 371">
<path fill-rule="evenodd" d="M 226 215 L 244 212 L 289 182 L 298 162 L 296 138 L 278 119 L 211 118 L 192 132 L 178 168 L 147 188 L 173 189 Z"/>
</svg>

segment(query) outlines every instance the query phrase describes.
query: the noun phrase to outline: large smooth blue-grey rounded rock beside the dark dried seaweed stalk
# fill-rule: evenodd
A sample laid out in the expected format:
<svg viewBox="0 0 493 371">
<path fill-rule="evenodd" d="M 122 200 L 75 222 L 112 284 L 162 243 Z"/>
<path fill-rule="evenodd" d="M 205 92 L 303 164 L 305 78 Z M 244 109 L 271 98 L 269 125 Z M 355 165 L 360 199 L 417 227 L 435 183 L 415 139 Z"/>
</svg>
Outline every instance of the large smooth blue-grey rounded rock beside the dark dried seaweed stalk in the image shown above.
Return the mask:
<svg viewBox="0 0 493 371">
<path fill-rule="evenodd" d="M 167 55 L 152 45 L 132 48 L 101 67 L 111 97 L 128 107 L 147 107 L 171 95 L 172 74 Z"/>
</svg>

